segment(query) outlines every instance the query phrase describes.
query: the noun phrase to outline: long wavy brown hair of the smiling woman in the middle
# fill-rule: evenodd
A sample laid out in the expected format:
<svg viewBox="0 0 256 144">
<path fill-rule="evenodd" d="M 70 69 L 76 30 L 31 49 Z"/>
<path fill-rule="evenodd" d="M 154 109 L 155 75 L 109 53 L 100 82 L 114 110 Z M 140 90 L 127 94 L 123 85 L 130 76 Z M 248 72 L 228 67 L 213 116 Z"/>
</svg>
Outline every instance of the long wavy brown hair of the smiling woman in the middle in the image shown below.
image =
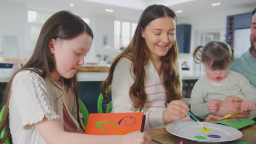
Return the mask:
<svg viewBox="0 0 256 144">
<path fill-rule="evenodd" d="M 149 49 L 146 45 L 145 39 L 142 38 L 141 29 L 145 29 L 149 22 L 158 19 L 159 17 L 166 16 L 172 17 L 176 21 L 175 13 L 164 5 L 150 5 L 143 11 L 141 17 L 139 18 L 131 43 L 114 59 L 106 81 L 102 82 L 101 84 L 101 93 L 103 94 L 104 98 L 108 99 L 105 90 L 107 89 L 110 91 L 109 86 L 112 83 L 115 66 L 121 58 L 126 57 L 132 61 L 133 69 L 131 69 L 131 71 L 135 75 L 135 77 L 133 77 L 135 82 L 130 87 L 129 95 L 135 109 L 141 110 L 143 108 L 147 100 L 147 95 L 144 89 L 144 79 L 146 75 L 144 65 L 146 65 L 149 61 Z M 160 67 L 160 71 L 163 74 L 164 87 L 166 91 L 166 105 L 172 100 L 181 99 L 181 82 L 178 70 L 176 68 L 177 55 L 178 45 L 177 41 L 175 40 L 166 56 L 161 57 L 162 65 Z"/>
</svg>

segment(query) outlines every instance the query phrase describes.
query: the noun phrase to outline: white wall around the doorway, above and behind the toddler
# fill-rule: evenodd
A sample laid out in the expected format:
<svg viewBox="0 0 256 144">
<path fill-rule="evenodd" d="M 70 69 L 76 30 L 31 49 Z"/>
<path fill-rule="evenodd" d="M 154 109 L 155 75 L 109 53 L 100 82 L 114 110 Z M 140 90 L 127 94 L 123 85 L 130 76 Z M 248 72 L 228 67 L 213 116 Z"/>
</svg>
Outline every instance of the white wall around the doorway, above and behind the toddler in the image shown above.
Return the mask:
<svg viewBox="0 0 256 144">
<path fill-rule="evenodd" d="M 221 31 L 220 40 L 225 42 L 226 33 L 226 17 L 229 15 L 251 13 L 256 5 L 248 7 L 246 9 L 234 9 L 232 11 L 222 11 L 221 13 L 214 14 L 197 14 L 190 17 L 178 17 L 177 24 L 190 24 L 191 25 L 191 40 L 190 40 L 190 53 L 180 53 L 178 60 L 179 62 L 187 61 L 190 69 L 193 70 L 194 61 L 191 53 L 198 46 L 197 35 L 200 32 L 211 32 L 211 31 Z M 248 39 L 249 40 L 249 39 Z"/>
</svg>

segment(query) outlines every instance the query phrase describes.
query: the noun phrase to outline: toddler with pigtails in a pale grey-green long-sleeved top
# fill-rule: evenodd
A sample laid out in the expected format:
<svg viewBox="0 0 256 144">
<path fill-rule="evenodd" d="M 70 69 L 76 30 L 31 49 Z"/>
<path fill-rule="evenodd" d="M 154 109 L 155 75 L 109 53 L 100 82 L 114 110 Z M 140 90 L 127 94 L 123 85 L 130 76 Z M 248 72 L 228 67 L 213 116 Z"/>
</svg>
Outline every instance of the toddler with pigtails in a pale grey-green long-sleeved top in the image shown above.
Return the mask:
<svg viewBox="0 0 256 144">
<path fill-rule="evenodd" d="M 251 111 L 249 118 L 255 117 L 256 88 L 245 76 L 228 70 L 229 63 L 234 58 L 234 51 L 220 41 L 211 41 L 206 46 L 199 46 L 193 53 L 195 62 L 200 61 L 205 67 L 206 74 L 196 83 L 191 92 L 191 111 L 200 117 L 210 113 L 225 116 L 241 110 L 239 115 Z M 241 98 L 237 109 L 230 107 L 230 113 L 220 110 L 220 103 L 227 97 Z M 222 110 L 222 109 L 221 109 Z M 218 112 L 218 113 L 217 113 Z"/>
</svg>

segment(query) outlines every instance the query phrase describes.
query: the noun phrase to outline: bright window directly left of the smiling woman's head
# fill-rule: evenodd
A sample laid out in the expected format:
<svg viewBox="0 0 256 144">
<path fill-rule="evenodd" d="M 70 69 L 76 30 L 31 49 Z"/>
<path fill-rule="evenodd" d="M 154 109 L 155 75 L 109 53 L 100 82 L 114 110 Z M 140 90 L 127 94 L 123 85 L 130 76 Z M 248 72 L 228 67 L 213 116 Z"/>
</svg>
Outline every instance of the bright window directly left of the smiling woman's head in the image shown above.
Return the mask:
<svg viewBox="0 0 256 144">
<path fill-rule="evenodd" d="M 114 21 L 114 49 L 126 48 L 135 33 L 137 23 Z"/>
</svg>

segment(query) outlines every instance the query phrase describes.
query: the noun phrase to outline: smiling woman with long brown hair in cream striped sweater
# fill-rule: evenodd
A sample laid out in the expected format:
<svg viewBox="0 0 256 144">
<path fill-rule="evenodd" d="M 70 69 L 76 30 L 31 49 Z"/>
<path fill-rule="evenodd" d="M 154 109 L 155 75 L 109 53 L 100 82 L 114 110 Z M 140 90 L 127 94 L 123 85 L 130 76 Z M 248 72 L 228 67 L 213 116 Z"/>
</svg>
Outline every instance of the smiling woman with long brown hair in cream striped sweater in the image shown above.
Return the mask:
<svg viewBox="0 0 256 144">
<path fill-rule="evenodd" d="M 182 99 L 181 66 L 177 62 L 176 15 L 164 5 L 150 5 L 131 43 L 118 55 L 102 83 L 112 91 L 112 112 L 145 112 L 145 128 L 189 116 Z"/>
</svg>

